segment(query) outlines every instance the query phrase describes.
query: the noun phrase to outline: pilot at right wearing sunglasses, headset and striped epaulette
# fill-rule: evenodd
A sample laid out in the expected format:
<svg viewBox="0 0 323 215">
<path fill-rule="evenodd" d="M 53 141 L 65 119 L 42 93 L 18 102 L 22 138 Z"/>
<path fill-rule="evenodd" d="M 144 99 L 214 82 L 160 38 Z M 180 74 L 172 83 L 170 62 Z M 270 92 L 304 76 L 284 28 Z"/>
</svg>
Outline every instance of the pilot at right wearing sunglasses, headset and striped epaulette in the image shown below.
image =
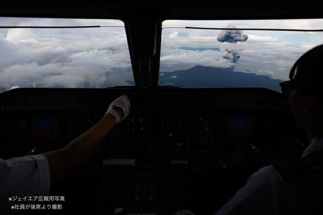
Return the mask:
<svg viewBox="0 0 323 215">
<path fill-rule="evenodd" d="M 259 169 L 216 215 L 319 213 L 323 187 L 322 70 L 323 45 L 319 45 L 297 60 L 290 81 L 280 83 L 297 125 L 312 137 L 302 158 Z"/>
</svg>

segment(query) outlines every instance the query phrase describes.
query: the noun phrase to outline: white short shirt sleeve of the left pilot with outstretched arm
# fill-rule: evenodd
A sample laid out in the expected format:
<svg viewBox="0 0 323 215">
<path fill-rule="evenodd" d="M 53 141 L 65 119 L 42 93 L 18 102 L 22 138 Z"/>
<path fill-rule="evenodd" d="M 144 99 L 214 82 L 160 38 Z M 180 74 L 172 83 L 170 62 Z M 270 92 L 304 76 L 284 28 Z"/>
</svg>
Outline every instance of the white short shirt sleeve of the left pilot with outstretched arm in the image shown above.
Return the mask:
<svg viewBox="0 0 323 215">
<path fill-rule="evenodd" d="M 28 202 L 19 198 L 48 196 L 49 190 L 49 167 L 44 155 L 0 159 L 0 211 Z"/>
</svg>

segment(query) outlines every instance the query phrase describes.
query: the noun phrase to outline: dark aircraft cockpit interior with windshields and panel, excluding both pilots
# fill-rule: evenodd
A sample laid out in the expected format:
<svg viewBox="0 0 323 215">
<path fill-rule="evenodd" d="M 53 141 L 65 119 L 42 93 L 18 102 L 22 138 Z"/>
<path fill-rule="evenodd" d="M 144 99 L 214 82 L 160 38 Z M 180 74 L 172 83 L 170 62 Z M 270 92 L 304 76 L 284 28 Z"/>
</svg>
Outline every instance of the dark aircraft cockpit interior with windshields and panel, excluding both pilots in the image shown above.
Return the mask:
<svg viewBox="0 0 323 215">
<path fill-rule="evenodd" d="M 0 158 L 66 146 L 127 94 L 129 116 L 52 185 L 61 212 L 214 214 L 309 143 L 279 83 L 323 43 L 323 16 L 293 8 L 0 8 Z"/>
</svg>

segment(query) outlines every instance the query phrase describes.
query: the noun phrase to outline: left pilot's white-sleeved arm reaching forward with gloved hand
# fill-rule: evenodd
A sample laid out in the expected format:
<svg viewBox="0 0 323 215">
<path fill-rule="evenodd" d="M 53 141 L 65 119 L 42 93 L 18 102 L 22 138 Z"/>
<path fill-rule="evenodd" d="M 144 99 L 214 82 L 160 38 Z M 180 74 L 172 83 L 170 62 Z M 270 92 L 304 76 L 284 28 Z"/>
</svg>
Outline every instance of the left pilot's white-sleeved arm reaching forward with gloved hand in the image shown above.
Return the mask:
<svg viewBox="0 0 323 215">
<path fill-rule="evenodd" d="M 39 155 L 0 159 L 0 211 L 21 203 L 26 196 L 48 196 L 50 184 L 82 164 L 110 130 L 129 115 L 130 100 L 114 100 L 101 120 L 66 147 Z M 2 208 L 4 207 L 4 208 Z"/>
</svg>

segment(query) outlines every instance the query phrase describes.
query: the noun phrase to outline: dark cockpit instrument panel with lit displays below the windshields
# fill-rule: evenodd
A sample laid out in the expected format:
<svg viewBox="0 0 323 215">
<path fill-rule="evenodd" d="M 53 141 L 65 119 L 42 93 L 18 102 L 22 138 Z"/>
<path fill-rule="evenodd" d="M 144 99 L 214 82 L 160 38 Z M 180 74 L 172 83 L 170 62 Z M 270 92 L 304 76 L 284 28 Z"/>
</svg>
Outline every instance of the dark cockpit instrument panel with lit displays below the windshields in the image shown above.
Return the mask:
<svg viewBox="0 0 323 215">
<path fill-rule="evenodd" d="M 66 146 L 122 94 L 130 98 L 130 115 L 69 176 L 87 184 L 99 214 L 113 214 L 118 207 L 127 213 L 198 211 L 211 201 L 207 196 L 220 207 L 223 192 L 234 194 L 233 184 L 244 177 L 239 172 L 226 178 L 218 161 L 224 154 L 251 142 L 270 159 L 284 138 L 306 141 L 281 93 L 263 88 L 19 88 L 0 94 L 0 157 L 24 156 L 37 146 Z M 72 185 L 62 186 L 68 190 Z M 223 187 L 228 189 L 221 191 Z M 70 195 L 81 196 L 75 194 L 78 190 Z"/>
</svg>

